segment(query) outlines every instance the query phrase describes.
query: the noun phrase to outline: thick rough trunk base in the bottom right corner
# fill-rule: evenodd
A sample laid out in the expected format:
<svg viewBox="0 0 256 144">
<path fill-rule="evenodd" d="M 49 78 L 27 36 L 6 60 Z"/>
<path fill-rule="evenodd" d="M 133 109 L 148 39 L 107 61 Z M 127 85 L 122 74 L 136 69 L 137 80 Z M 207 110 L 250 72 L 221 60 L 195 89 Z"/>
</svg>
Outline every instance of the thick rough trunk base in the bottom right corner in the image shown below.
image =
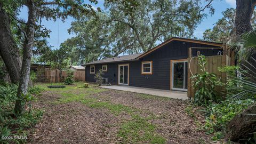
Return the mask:
<svg viewBox="0 0 256 144">
<path fill-rule="evenodd" d="M 248 107 L 241 115 L 236 115 L 232 121 L 230 121 L 227 129 L 227 138 L 231 141 L 248 139 L 249 133 L 256 132 L 256 116 L 243 114 L 256 115 L 256 105 Z"/>
</svg>

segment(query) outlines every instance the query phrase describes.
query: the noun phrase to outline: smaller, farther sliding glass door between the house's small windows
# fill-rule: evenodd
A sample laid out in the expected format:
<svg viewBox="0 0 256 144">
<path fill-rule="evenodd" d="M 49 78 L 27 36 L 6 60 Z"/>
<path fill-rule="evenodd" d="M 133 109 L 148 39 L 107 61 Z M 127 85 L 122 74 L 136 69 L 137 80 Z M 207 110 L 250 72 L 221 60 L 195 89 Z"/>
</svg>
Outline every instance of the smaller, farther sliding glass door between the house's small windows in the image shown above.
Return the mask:
<svg viewBox="0 0 256 144">
<path fill-rule="evenodd" d="M 129 64 L 118 65 L 118 84 L 129 85 Z"/>
</svg>

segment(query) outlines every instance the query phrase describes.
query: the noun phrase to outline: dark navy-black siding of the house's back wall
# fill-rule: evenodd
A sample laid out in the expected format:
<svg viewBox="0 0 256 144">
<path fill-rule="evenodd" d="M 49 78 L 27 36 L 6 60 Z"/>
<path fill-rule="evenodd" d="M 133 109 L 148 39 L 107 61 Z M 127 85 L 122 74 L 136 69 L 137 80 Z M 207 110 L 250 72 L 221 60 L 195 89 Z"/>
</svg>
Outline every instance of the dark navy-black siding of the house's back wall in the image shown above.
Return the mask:
<svg viewBox="0 0 256 144">
<path fill-rule="evenodd" d="M 197 44 L 190 42 L 173 41 L 161 48 L 151 52 L 138 61 L 122 62 L 122 63 L 108 63 L 108 71 L 104 72 L 103 77 L 107 77 L 108 81 L 114 79 L 111 84 L 117 84 L 118 79 L 118 65 L 123 63 L 130 64 L 129 85 L 148 87 L 154 89 L 170 90 L 170 60 L 187 59 L 189 47 L 217 47 L 205 44 Z M 198 49 L 199 50 L 199 49 Z M 220 50 L 201 49 L 201 54 L 217 55 Z M 222 50 L 221 50 L 222 51 Z M 193 50 L 193 55 L 197 55 L 197 50 Z M 141 74 L 141 61 L 153 61 L 153 74 Z M 106 64 L 103 64 L 106 65 Z M 95 72 L 97 72 L 102 65 L 94 65 Z M 115 76 L 114 76 L 115 74 Z M 94 74 L 90 74 L 90 66 L 86 66 L 86 81 L 95 82 Z"/>
</svg>

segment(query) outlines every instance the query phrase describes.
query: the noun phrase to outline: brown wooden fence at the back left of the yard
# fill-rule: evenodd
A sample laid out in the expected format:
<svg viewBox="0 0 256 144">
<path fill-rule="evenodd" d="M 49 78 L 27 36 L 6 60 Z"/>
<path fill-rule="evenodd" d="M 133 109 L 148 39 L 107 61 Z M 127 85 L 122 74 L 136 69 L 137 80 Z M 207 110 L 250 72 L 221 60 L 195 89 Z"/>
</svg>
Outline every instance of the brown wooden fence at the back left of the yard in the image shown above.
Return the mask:
<svg viewBox="0 0 256 144">
<path fill-rule="evenodd" d="M 67 77 L 66 71 L 59 70 L 45 70 L 42 74 L 37 74 L 37 82 L 52 82 L 57 83 L 63 81 Z M 81 82 L 85 81 L 85 71 L 74 71 L 74 81 Z"/>
</svg>

